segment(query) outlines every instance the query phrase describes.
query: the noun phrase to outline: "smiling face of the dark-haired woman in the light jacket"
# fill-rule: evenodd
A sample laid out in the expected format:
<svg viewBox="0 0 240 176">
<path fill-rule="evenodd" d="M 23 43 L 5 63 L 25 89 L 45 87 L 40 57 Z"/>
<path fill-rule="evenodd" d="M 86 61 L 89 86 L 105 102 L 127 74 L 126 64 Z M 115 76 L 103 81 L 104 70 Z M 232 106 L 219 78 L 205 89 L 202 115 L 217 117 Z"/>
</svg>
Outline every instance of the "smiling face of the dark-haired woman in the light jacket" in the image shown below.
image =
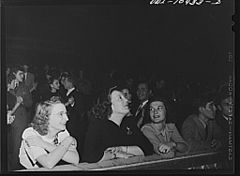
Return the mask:
<svg viewBox="0 0 240 176">
<path fill-rule="evenodd" d="M 153 123 L 162 123 L 166 119 L 166 107 L 161 101 L 150 104 L 150 117 Z"/>
</svg>

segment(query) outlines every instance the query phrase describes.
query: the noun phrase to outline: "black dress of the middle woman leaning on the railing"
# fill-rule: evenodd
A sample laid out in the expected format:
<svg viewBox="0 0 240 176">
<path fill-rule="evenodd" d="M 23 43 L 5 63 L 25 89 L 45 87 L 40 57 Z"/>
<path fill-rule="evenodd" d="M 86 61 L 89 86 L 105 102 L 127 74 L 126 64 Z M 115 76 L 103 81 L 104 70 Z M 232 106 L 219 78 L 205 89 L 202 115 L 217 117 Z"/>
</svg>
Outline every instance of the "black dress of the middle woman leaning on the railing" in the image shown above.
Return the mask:
<svg viewBox="0 0 240 176">
<path fill-rule="evenodd" d="M 98 162 L 103 157 L 104 151 L 114 146 L 138 146 L 145 155 L 153 153 L 152 144 L 141 132 L 127 134 L 125 128 L 120 128 L 110 120 L 95 119 L 88 127 L 82 161 Z"/>
</svg>

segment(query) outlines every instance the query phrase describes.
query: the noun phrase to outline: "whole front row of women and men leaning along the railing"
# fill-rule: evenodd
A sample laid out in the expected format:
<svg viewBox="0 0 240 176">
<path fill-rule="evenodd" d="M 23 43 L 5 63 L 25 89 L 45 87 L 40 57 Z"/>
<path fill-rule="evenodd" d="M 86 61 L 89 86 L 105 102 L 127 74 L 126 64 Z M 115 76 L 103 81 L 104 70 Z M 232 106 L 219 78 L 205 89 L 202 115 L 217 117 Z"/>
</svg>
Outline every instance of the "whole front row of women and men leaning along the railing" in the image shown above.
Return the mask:
<svg viewBox="0 0 240 176">
<path fill-rule="evenodd" d="M 146 97 L 141 86 L 138 92 Z M 79 141 L 68 132 L 71 127 L 67 122 L 72 119 L 67 115 L 66 106 L 58 98 L 52 98 L 38 104 L 30 127 L 24 130 L 19 160 L 25 168 L 52 168 L 66 162 L 77 165 L 79 162 L 95 163 L 153 153 L 172 158 L 176 152 L 219 150 L 228 142 L 223 137 L 227 135 L 215 120 L 217 107 L 214 100 L 213 94 L 202 94 L 194 102 L 197 113 L 184 121 L 179 132 L 173 123 L 167 123 L 168 108 L 162 97 L 144 100 L 148 108 L 137 109 L 133 115 L 123 87 L 116 86 L 91 109 L 84 140 Z M 223 99 L 222 96 L 219 102 L 222 114 L 229 122 L 232 98 Z M 141 114 L 139 118 L 138 114 Z M 80 123 L 76 124 L 76 132 L 81 133 Z M 82 146 L 82 150 L 79 151 L 77 146 Z"/>
</svg>

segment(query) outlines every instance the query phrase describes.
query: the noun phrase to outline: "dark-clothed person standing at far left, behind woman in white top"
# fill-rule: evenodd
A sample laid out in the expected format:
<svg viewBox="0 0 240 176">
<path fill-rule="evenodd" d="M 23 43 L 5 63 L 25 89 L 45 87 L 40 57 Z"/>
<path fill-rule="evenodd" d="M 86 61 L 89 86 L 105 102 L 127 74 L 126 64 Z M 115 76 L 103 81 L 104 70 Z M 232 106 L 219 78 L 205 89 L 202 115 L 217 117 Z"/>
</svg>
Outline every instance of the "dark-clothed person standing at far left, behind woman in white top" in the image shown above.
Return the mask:
<svg viewBox="0 0 240 176">
<path fill-rule="evenodd" d="M 18 97 L 17 102 L 21 102 L 14 112 L 15 118 L 10 125 L 11 128 L 9 131 L 11 135 L 12 145 L 12 152 L 9 153 L 11 157 L 11 160 L 9 160 L 9 169 L 16 170 L 22 168 L 18 160 L 18 151 L 21 144 L 21 134 L 27 127 L 28 123 L 31 121 L 30 113 L 27 111 L 27 109 L 32 108 L 33 101 L 29 88 L 24 84 L 24 72 L 22 67 L 13 67 L 9 75 L 12 75 L 14 77 L 13 81 L 15 83 L 13 86 L 14 89 L 10 89 L 9 93 L 15 97 Z"/>
</svg>

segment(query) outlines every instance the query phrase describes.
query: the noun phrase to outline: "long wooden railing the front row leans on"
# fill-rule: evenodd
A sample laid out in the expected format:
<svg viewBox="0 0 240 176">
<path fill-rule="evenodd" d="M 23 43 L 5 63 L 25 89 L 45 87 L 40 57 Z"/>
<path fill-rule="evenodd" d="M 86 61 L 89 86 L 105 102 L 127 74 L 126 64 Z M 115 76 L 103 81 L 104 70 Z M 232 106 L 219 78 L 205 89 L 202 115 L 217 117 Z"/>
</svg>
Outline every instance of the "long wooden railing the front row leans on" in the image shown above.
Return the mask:
<svg viewBox="0 0 240 176">
<path fill-rule="evenodd" d="M 159 155 L 136 156 L 128 159 L 114 159 L 99 163 L 79 163 L 78 165 L 61 165 L 53 169 L 37 168 L 25 171 L 107 171 L 107 170 L 172 170 L 172 169 L 218 169 L 219 163 L 226 159 L 224 152 L 201 152 L 188 155 L 178 154 L 172 159 L 162 159 Z"/>
</svg>

